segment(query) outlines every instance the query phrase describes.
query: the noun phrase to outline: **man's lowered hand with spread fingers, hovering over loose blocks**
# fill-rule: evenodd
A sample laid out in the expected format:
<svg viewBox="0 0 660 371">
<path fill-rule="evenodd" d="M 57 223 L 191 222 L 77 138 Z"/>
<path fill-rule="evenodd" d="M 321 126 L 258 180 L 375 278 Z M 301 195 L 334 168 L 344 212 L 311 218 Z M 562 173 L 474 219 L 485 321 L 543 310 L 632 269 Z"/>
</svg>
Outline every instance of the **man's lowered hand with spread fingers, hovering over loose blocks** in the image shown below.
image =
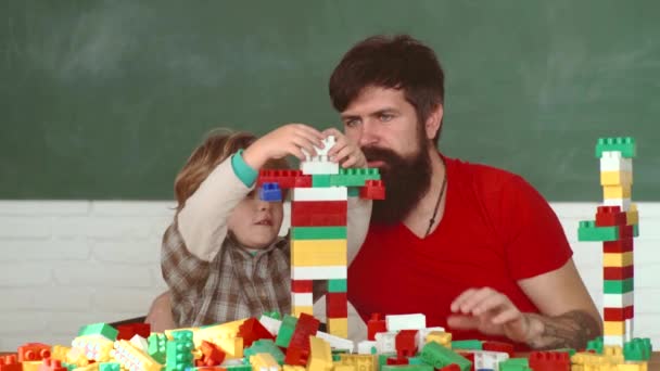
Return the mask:
<svg viewBox="0 0 660 371">
<path fill-rule="evenodd" d="M 505 335 L 526 343 L 530 319 L 504 294 L 490 289 L 469 289 L 452 303 L 447 324 L 454 329 L 478 330 L 487 335 Z"/>
</svg>

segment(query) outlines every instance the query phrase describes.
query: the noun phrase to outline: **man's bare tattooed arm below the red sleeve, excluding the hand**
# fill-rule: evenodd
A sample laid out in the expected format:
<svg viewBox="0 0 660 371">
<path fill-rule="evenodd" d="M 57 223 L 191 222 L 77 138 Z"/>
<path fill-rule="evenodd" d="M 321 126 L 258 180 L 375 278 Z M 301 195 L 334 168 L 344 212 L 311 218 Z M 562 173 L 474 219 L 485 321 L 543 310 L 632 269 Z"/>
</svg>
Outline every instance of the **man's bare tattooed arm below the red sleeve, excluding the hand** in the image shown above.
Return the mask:
<svg viewBox="0 0 660 371">
<path fill-rule="evenodd" d="M 602 333 L 602 322 L 573 260 L 563 267 L 518 282 L 543 315 L 525 314 L 526 343 L 535 349 L 584 348 Z"/>
</svg>

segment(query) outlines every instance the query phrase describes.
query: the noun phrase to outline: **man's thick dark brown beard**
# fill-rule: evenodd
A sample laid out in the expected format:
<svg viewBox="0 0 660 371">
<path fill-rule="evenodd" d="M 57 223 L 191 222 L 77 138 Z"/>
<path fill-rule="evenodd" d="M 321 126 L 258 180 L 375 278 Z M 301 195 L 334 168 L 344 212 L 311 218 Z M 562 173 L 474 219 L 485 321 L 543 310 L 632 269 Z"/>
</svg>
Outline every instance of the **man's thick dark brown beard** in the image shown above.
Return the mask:
<svg viewBox="0 0 660 371">
<path fill-rule="evenodd" d="M 371 221 L 394 225 L 402 221 L 424 196 L 431 183 L 429 144 L 420 138 L 419 152 L 408 158 L 392 150 L 363 148 L 367 161 L 382 161 L 380 169 L 385 186 L 385 200 L 373 201 Z"/>
</svg>

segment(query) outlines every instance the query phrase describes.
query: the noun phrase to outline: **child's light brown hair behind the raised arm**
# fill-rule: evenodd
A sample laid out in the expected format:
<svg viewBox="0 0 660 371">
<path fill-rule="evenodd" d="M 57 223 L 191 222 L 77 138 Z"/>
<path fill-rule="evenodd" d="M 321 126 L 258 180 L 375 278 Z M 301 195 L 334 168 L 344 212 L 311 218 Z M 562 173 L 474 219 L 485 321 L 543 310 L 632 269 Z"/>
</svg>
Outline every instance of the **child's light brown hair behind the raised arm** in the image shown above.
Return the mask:
<svg viewBox="0 0 660 371">
<path fill-rule="evenodd" d="M 186 201 L 200 188 L 211 171 L 238 150 L 246 149 L 256 137 L 248 132 L 216 129 L 211 131 L 204 142 L 198 146 L 188 158 L 183 168 L 174 182 L 174 193 L 177 199 L 177 212 L 186 205 Z M 284 158 L 269 159 L 264 168 L 288 169 Z"/>
</svg>

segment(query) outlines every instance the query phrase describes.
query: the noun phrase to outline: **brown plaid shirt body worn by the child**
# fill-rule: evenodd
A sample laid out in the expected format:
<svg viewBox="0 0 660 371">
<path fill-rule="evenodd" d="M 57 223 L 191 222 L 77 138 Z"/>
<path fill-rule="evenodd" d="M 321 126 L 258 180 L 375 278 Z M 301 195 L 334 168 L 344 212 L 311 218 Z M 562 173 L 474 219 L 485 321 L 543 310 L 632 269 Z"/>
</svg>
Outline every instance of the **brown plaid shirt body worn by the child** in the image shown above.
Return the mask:
<svg viewBox="0 0 660 371">
<path fill-rule="evenodd" d="M 198 327 L 258 317 L 264 311 L 291 312 L 290 245 L 278 239 L 254 256 L 231 236 L 211 261 L 192 255 L 177 226 L 163 235 L 161 267 L 179 327 Z"/>
</svg>

